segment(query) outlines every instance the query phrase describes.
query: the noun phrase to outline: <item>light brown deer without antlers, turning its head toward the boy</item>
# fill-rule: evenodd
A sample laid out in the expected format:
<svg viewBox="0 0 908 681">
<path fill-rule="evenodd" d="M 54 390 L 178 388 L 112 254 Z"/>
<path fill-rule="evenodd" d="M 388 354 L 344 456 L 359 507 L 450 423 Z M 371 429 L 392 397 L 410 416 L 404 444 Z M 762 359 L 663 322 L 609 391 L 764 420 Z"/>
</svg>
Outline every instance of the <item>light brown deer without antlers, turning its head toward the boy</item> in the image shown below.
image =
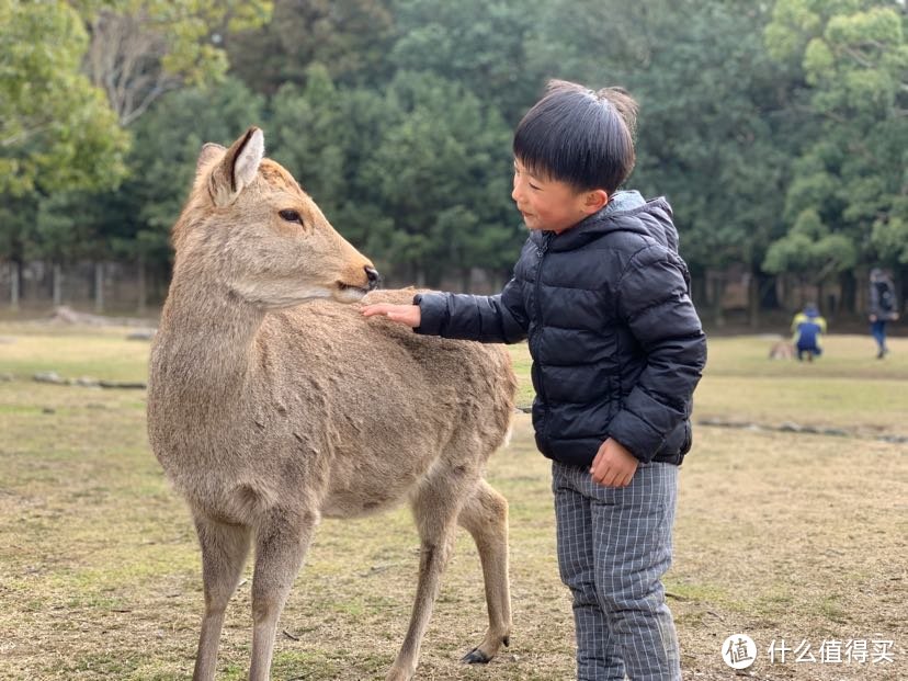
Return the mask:
<svg viewBox="0 0 908 681">
<path fill-rule="evenodd" d="M 408 502 L 416 598 L 388 681 L 411 679 L 457 526 L 474 538 L 489 625 L 463 661 L 509 645 L 508 503 L 484 479 L 509 436 L 506 350 L 365 318 L 410 302 L 331 226 L 250 127 L 203 146 L 171 232 L 173 273 L 149 357 L 148 438 L 189 506 L 204 616 L 194 681 L 215 678 L 225 610 L 254 554 L 250 681 L 322 518 Z M 254 551 L 252 551 L 254 549 Z"/>
</svg>

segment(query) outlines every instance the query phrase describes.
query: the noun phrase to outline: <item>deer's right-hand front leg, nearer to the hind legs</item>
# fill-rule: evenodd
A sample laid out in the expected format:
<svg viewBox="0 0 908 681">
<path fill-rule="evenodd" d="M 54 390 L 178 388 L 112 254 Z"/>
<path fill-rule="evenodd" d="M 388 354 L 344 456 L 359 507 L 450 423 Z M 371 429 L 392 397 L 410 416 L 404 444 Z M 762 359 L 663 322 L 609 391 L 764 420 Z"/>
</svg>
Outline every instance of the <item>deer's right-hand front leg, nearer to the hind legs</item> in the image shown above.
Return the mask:
<svg viewBox="0 0 908 681">
<path fill-rule="evenodd" d="M 313 536 L 318 514 L 272 511 L 257 529 L 252 576 L 252 666 L 250 681 L 268 681 L 277 617 Z"/>
</svg>

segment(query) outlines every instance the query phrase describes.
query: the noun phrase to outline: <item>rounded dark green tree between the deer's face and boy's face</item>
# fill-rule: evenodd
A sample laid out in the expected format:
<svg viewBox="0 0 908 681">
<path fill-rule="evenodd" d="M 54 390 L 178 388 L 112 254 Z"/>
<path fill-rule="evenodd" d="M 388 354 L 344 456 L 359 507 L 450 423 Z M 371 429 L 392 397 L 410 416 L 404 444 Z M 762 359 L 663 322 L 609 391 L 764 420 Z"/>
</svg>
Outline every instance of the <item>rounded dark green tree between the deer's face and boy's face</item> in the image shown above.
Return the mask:
<svg viewBox="0 0 908 681">
<path fill-rule="evenodd" d="M 429 285 L 513 264 L 525 234 L 510 198 L 511 132 L 498 111 L 430 73 L 398 73 L 387 97 L 399 114 L 363 170 L 390 220 L 375 235 L 383 254 Z"/>
</svg>

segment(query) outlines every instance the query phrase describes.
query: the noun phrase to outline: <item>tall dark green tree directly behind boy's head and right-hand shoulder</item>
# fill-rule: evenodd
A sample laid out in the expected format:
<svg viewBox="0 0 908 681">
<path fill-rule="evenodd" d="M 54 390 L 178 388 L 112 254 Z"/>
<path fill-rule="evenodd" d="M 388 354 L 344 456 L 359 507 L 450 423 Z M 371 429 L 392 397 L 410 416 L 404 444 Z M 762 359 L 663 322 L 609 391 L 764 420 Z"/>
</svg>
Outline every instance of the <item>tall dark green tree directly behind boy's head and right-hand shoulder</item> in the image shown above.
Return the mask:
<svg viewBox="0 0 908 681">
<path fill-rule="evenodd" d="M 533 59 L 591 88 L 623 86 L 639 101 L 627 186 L 672 203 L 697 297 L 708 293 L 717 322 L 724 281 L 705 292 L 705 275 L 745 264 L 757 324 L 761 263 L 784 232 L 778 196 L 802 132 L 793 79 L 754 31 L 768 10 L 747 0 L 565 0 L 545 11 Z"/>
</svg>

